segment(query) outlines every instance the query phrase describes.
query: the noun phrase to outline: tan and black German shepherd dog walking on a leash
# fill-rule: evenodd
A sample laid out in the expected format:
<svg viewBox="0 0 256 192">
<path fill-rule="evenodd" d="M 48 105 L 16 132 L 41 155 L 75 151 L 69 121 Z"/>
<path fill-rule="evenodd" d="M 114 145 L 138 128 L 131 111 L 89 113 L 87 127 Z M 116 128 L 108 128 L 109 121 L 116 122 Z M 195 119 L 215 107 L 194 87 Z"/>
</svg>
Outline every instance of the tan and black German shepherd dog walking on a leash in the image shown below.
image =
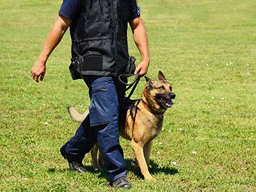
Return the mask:
<svg viewBox="0 0 256 192">
<path fill-rule="evenodd" d="M 160 133 L 164 112 L 173 105 L 172 99 L 175 99 L 175 94 L 172 92 L 172 85 L 161 71 L 158 73 L 158 81 L 148 77 L 145 79 L 147 82 L 141 93 L 141 99 L 136 100 L 129 109 L 120 109 L 118 129 L 123 138 L 131 141 L 143 177 L 154 181 L 155 179 L 148 172 L 152 140 Z M 68 108 L 68 112 L 77 122 L 83 122 L 88 115 L 88 111 L 78 113 L 75 108 Z M 100 168 L 97 161 L 98 150 L 96 144 L 91 151 L 93 168 Z M 104 164 L 102 159 L 99 153 L 99 161 Z"/>
</svg>

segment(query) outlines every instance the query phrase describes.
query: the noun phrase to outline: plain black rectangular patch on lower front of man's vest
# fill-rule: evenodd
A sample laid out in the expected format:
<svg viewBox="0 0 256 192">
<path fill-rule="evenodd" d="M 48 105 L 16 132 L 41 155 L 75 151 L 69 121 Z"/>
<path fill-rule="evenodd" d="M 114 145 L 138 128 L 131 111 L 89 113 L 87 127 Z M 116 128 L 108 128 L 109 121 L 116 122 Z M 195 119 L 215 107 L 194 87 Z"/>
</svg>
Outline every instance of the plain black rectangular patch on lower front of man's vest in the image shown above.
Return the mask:
<svg viewBox="0 0 256 192">
<path fill-rule="evenodd" d="M 82 65 L 82 72 L 87 70 L 103 70 L 103 57 L 100 55 L 90 55 L 84 57 L 84 63 Z"/>
</svg>

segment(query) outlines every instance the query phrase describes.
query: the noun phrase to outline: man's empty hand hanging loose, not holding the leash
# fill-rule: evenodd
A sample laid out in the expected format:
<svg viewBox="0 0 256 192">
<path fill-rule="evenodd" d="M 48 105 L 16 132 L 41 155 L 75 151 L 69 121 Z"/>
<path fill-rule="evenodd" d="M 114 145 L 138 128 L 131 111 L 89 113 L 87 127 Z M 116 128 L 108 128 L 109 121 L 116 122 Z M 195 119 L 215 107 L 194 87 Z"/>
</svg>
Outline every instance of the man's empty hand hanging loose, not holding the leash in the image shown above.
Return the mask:
<svg viewBox="0 0 256 192">
<path fill-rule="evenodd" d="M 45 72 L 46 72 L 46 67 L 45 67 L 45 63 L 42 61 L 36 61 L 36 63 L 34 64 L 34 66 L 31 68 L 30 73 L 31 73 L 31 77 L 38 83 L 38 79 L 40 79 L 40 81 L 43 81 L 44 76 L 45 76 Z"/>
</svg>

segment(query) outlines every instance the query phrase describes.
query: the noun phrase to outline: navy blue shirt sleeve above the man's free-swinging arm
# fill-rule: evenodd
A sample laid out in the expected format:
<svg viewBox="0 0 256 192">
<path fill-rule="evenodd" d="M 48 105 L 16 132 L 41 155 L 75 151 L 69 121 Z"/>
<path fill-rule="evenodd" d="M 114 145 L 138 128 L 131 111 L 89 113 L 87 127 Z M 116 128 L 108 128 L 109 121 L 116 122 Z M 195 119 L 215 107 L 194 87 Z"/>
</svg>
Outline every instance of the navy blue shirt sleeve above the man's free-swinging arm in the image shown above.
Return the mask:
<svg viewBox="0 0 256 192">
<path fill-rule="evenodd" d="M 72 20 L 80 12 L 81 6 L 82 0 L 63 0 L 59 14 Z"/>
</svg>

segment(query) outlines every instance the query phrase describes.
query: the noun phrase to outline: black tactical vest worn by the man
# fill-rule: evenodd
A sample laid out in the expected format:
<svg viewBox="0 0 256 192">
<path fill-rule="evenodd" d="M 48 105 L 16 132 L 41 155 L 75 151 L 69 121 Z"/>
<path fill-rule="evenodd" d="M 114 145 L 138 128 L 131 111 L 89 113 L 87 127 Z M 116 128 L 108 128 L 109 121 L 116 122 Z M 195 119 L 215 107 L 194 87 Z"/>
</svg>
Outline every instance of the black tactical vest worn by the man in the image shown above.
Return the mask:
<svg viewBox="0 0 256 192">
<path fill-rule="evenodd" d="M 127 23 L 131 0 L 84 0 L 81 13 L 72 20 L 73 79 L 81 75 L 116 76 L 129 60 Z M 77 73 L 78 72 L 78 73 Z M 79 74 L 79 75 L 77 75 Z"/>
</svg>

